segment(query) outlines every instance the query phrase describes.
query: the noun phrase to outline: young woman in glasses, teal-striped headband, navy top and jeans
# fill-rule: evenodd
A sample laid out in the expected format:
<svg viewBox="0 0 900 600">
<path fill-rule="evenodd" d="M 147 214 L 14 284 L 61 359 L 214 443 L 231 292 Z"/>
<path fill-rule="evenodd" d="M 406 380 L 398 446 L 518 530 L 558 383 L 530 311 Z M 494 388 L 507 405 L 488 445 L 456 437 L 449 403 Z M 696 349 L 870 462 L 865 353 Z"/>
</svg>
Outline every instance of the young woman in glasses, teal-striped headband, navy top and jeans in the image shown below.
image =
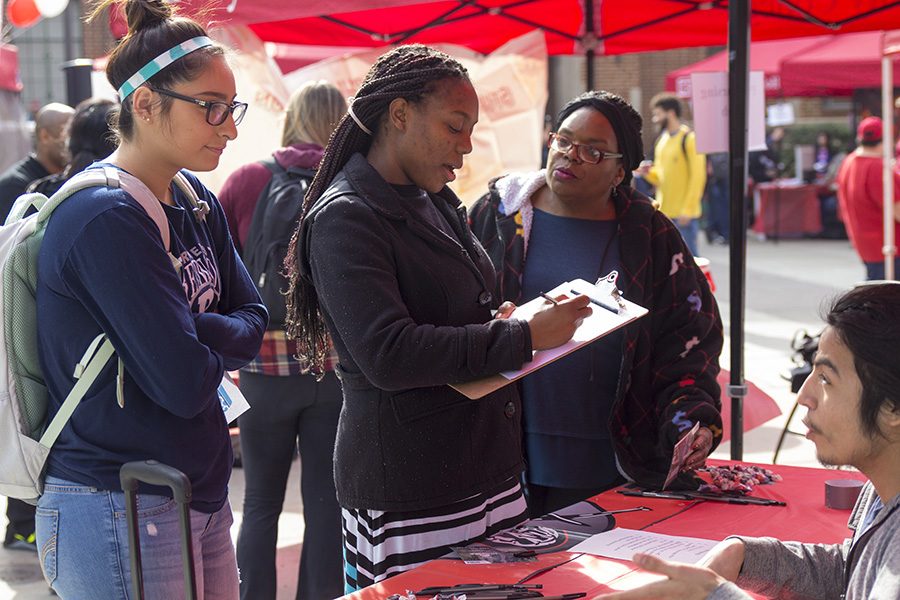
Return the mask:
<svg viewBox="0 0 900 600">
<path fill-rule="evenodd" d="M 101 3 L 94 16 L 114 3 Z M 267 315 L 218 201 L 183 169 L 214 169 L 247 105 L 235 101 L 223 49 L 196 22 L 161 0 L 120 4 L 129 33 L 107 66 L 121 99 L 119 143 L 88 171 L 131 175 L 146 194 L 140 185 L 130 190 L 146 199 L 95 187 L 59 205 L 38 256 L 37 317 L 51 417 L 99 334 L 124 373 L 116 360 L 107 363 L 50 452 L 37 508 L 41 566 L 60 597 L 127 597 L 133 574 L 119 469 L 156 459 L 191 481 L 199 596 L 232 600 L 232 454 L 217 388 L 226 370 L 256 355 Z M 181 597 L 171 492 L 141 487 L 138 519 L 147 597 Z"/>
</svg>

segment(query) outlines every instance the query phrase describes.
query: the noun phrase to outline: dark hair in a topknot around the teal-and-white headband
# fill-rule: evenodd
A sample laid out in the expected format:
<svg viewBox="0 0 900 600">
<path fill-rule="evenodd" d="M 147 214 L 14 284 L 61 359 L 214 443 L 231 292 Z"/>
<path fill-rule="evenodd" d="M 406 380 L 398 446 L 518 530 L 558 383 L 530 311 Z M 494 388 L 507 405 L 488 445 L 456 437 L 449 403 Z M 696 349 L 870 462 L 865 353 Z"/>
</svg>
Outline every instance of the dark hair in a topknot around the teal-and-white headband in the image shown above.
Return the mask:
<svg viewBox="0 0 900 600">
<path fill-rule="evenodd" d="M 205 36 L 203 27 L 192 19 L 176 16 L 175 8 L 165 0 L 102 0 L 94 8 L 88 20 L 100 16 L 103 9 L 119 4 L 124 6 L 128 22 L 128 35 L 110 53 L 106 63 L 106 78 L 118 90 L 132 75 L 148 62 L 182 42 Z M 179 58 L 148 80 L 148 83 L 168 88 L 183 81 L 192 81 L 200 75 L 213 56 L 222 56 L 224 49 L 213 44 Z M 112 117 L 116 135 L 130 140 L 134 135 L 132 97 L 125 98 Z M 174 102 L 163 96 L 160 111 L 167 114 Z"/>
</svg>

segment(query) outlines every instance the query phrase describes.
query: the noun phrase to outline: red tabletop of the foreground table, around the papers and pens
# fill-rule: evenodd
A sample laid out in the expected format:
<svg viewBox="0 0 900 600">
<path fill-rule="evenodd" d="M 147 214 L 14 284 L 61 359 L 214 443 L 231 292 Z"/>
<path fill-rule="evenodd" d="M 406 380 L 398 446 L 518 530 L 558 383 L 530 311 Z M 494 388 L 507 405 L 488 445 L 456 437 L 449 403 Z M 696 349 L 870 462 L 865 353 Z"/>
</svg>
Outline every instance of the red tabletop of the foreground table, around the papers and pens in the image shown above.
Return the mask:
<svg viewBox="0 0 900 600">
<path fill-rule="evenodd" d="M 713 465 L 733 461 L 709 461 Z M 606 510 L 646 506 L 649 512 L 616 515 L 616 525 L 655 533 L 721 540 L 729 535 L 772 536 L 801 542 L 839 543 L 849 537 L 849 510 L 825 507 L 825 481 L 858 479 L 856 471 L 810 469 L 782 465 L 759 465 L 782 476 L 782 481 L 757 486 L 754 496 L 783 500 L 787 506 L 734 505 L 722 502 L 690 502 L 624 496 L 615 490 L 592 500 Z M 537 561 L 498 565 L 466 565 L 459 560 L 435 560 L 381 583 L 345 596 L 352 600 L 383 600 L 391 594 L 419 590 L 435 585 L 458 583 L 515 583 L 537 569 L 561 563 L 528 583 L 540 583 L 544 595 L 587 592 L 597 594 L 630 589 L 646 583 L 653 575 L 637 569 L 631 562 L 555 552 L 538 556 Z"/>
</svg>

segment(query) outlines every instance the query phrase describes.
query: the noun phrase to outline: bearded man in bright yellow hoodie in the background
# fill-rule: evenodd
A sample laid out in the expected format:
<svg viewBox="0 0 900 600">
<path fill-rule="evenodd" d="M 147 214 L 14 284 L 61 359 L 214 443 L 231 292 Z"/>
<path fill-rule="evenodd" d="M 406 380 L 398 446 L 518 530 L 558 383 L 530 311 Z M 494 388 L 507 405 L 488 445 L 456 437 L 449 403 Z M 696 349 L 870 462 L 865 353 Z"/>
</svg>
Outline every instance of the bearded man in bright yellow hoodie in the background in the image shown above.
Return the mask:
<svg viewBox="0 0 900 600">
<path fill-rule="evenodd" d="M 663 213 L 675 222 L 691 253 L 697 255 L 700 201 L 706 187 L 706 156 L 697 152 L 697 137 L 681 122 L 681 102 L 673 94 L 651 100 L 653 122 L 662 132 L 653 164 L 641 173 L 656 187 Z"/>
</svg>

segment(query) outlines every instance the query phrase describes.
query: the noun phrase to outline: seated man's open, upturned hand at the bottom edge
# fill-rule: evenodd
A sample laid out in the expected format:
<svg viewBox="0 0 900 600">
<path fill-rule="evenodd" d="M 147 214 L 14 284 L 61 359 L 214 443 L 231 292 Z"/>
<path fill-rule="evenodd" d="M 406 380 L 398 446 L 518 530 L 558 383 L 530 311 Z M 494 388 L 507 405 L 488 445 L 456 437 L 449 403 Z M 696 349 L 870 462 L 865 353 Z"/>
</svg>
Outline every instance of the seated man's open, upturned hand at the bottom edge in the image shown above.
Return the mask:
<svg viewBox="0 0 900 600">
<path fill-rule="evenodd" d="M 660 573 L 667 579 L 648 583 L 626 592 L 597 596 L 605 600 L 705 600 L 725 582 L 707 567 L 670 562 L 649 554 L 635 554 L 634 563 L 645 571 Z"/>
</svg>

